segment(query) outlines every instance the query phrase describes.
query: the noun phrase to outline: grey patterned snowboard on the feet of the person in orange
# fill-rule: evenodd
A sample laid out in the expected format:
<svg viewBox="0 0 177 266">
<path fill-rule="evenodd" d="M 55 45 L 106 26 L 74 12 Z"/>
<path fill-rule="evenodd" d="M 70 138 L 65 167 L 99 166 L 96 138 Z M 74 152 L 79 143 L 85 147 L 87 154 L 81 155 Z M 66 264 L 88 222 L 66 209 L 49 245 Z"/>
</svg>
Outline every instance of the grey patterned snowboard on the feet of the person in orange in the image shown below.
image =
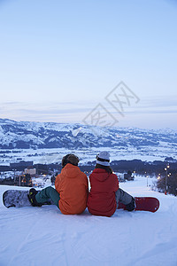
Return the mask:
<svg viewBox="0 0 177 266">
<path fill-rule="evenodd" d="M 8 190 L 3 194 L 3 203 L 5 207 L 29 207 L 32 206 L 28 200 L 28 191 Z M 42 205 L 54 204 L 49 200 Z"/>
</svg>

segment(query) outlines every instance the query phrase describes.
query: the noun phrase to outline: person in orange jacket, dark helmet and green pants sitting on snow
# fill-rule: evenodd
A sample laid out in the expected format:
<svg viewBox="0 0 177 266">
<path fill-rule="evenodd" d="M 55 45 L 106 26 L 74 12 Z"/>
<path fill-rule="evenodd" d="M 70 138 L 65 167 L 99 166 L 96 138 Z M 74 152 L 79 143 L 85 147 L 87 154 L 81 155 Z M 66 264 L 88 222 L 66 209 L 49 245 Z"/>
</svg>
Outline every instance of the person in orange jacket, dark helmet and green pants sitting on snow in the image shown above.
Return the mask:
<svg viewBox="0 0 177 266">
<path fill-rule="evenodd" d="M 64 215 L 79 215 L 87 207 L 89 194 L 88 177 L 78 167 L 79 158 L 67 154 L 62 160 L 62 170 L 51 186 L 41 192 L 34 188 L 29 190 L 28 198 L 32 206 L 41 207 L 43 203 L 52 200 Z"/>
</svg>

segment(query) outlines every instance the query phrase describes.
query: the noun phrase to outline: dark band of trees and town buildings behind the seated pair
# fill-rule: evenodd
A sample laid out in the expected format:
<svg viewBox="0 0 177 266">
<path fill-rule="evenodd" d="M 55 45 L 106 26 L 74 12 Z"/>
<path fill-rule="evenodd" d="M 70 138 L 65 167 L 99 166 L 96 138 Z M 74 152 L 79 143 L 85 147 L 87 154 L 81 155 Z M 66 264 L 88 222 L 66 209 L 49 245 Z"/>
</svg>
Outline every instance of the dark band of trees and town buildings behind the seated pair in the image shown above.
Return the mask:
<svg viewBox="0 0 177 266">
<path fill-rule="evenodd" d="M 96 161 L 88 161 L 81 165 L 88 177 L 95 168 Z M 170 174 L 176 174 L 177 162 L 173 158 L 165 161 L 156 160 L 147 162 L 142 160 L 113 160 L 112 170 L 117 174 L 119 182 L 134 180 L 136 175 L 146 177 L 165 176 L 165 167 L 170 166 Z M 18 163 L 10 163 L 9 166 L 0 166 L 0 184 L 43 187 L 43 184 L 55 184 L 55 178 L 60 173 L 61 164 L 34 164 L 33 161 L 21 160 Z"/>
</svg>

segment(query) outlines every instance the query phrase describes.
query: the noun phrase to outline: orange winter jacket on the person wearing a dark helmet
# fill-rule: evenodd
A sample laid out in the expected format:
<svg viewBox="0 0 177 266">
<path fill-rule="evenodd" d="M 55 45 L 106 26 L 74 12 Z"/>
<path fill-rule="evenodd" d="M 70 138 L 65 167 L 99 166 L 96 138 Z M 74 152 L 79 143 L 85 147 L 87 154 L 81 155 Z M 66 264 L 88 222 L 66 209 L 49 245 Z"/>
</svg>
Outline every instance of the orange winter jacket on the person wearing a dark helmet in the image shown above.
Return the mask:
<svg viewBox="0 0 177 266">
<path fill-rule="evenodd" d="M 85 210 L 89 193 L 88 177 L 79 167 L 67 163 L 57 176 L 55 187 L 60 195 L 59 209 L 64 215 L 79 215 Z"/>
</svg>

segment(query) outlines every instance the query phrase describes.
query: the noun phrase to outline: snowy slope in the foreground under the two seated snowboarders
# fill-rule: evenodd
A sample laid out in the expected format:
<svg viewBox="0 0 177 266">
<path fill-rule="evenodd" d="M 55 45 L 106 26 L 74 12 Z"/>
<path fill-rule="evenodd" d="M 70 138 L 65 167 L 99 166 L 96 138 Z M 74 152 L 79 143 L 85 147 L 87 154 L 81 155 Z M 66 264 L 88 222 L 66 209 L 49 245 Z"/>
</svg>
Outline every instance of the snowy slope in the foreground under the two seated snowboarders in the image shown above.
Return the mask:
<svg viewBox="0 0 177 266">
<path fill-rule="evenodd" d="M 15 187 L 0 186 L 0 265 L 176 266 L 177 198 L 151 191 L 146 177 L 120 187 L 157 197 L 158 212 L 117 210 L 108 218 L 87 209 L 62 215 L 55 206 L 7 209 L 2 194 Z"/>
</svg>

